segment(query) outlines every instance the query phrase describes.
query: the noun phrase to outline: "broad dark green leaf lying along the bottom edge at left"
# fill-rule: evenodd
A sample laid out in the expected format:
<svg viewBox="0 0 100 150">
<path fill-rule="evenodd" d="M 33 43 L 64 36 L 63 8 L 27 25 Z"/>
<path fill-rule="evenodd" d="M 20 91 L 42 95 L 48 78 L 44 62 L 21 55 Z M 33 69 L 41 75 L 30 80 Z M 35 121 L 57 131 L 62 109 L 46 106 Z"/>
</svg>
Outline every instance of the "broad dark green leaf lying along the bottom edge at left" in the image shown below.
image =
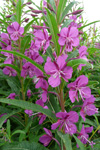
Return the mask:
<svg viewBox="0 0 100 150">
<path fill-rule="evenodd" d="M 4 146 L 2 146 L 1 149 L 2 150 L 48 150 L 42 144 L 36 142 L 30 143 L 28 141 L 5 144 Z"/>
</svg>

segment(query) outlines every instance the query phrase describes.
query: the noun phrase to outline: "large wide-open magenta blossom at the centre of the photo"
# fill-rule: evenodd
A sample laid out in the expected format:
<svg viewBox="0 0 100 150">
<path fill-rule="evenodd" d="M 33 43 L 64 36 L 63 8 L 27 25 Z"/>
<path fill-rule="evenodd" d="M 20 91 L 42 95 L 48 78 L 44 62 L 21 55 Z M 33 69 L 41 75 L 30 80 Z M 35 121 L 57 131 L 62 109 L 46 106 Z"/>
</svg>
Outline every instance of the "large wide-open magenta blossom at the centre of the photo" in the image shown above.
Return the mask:
<svg viewBox="0 0 100 150">
<path fill-rule="evenodd" d="M 61 77 L 66 82 L 68 82 L 68 79 L 72 77 L 73 69 L 70 66 L 66 66 L 66 59 L 66 55 L 59 56 L 56 62 L 51 62 L 51 59 L 49 57 L 47 58 L 44 70 L 47 74 L 51 75 L 48 82 L 52 87 L 60 85 Z"/>
</svg>

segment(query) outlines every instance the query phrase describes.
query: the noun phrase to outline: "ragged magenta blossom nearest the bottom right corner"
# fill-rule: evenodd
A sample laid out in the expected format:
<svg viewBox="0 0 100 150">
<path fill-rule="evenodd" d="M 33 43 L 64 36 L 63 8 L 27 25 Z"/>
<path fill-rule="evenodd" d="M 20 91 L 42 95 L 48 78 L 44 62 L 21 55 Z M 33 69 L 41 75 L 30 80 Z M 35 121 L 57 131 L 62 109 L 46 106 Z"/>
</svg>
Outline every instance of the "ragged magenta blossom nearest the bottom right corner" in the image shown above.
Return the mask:
<svg viewBox="0 0 100 150">
<path fill-rule="evenodd" d="M 93 130 L 93 127 L 84 128 L 84 124 L 83 124 L 81 132 L 79 133 L 79 136 L 78 136 L 78 139 L 80 139 L 83 144 L 86 144 L 88 142 L 89 145 L 91 145 L 91 147 L 93 147 L 95 143 L 93 143 L 93 141 L 90 142 L 88 140 L 89 135 L 87 133 L 91 133 L 92 130 Z M 77 145 L 77 147 L 79 146 Z"/>
</svg>

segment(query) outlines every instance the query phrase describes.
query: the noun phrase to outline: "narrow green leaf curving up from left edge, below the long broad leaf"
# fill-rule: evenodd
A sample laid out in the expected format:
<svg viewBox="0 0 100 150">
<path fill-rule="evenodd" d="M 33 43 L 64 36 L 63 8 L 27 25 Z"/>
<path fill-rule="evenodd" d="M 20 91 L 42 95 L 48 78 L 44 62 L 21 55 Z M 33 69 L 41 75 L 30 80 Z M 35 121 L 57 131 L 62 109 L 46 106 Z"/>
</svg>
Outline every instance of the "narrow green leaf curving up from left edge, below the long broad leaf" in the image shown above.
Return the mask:
<svg viewBox="0 0 100 150">
<path fill-rule="evenodd" d="M 13 101 L 13 100 L 12 100 L 12 101 Z M 8 102 L 7 104 L 9 104 L 9 102 Z M 5 121 L 6 119 L 8 119 L 8 118 L 11 117 L 12 115 L 14 115 L 14 114 L 16 114 L 16 113 L 18 113 L 18 112 L 20 112 L 20 111 L 21 111 L 21 109 L 19 109 L 19 110 L 14 110 L 14 111 L 12 111 L 11 113 L 8 113 L 7 115 L 2 116 L 2 117 L 0 118 L 0 128 L 2 127 L 2 125 L 3 125 L 3 123 L 4 123 L 4 121 Z"/>
</svg>

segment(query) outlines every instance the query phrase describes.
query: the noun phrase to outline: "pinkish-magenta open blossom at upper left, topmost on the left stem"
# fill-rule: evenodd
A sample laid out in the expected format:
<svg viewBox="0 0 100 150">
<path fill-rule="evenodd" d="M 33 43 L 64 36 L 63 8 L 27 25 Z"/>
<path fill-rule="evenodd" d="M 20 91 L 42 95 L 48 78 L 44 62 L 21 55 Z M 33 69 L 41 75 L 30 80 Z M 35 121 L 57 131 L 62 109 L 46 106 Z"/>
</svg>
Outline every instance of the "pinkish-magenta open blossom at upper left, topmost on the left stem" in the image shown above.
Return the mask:
<svg viewBox="0 0 100 150">
<path fill-rule="evenodd" d="M 17 41 L 20 36 L 24 33 L 24 28 L 20 27 L 17 22 L 13 22 L 12 25 L 7 27 L 7 31 L 13 41 Z"/>
</svg>

